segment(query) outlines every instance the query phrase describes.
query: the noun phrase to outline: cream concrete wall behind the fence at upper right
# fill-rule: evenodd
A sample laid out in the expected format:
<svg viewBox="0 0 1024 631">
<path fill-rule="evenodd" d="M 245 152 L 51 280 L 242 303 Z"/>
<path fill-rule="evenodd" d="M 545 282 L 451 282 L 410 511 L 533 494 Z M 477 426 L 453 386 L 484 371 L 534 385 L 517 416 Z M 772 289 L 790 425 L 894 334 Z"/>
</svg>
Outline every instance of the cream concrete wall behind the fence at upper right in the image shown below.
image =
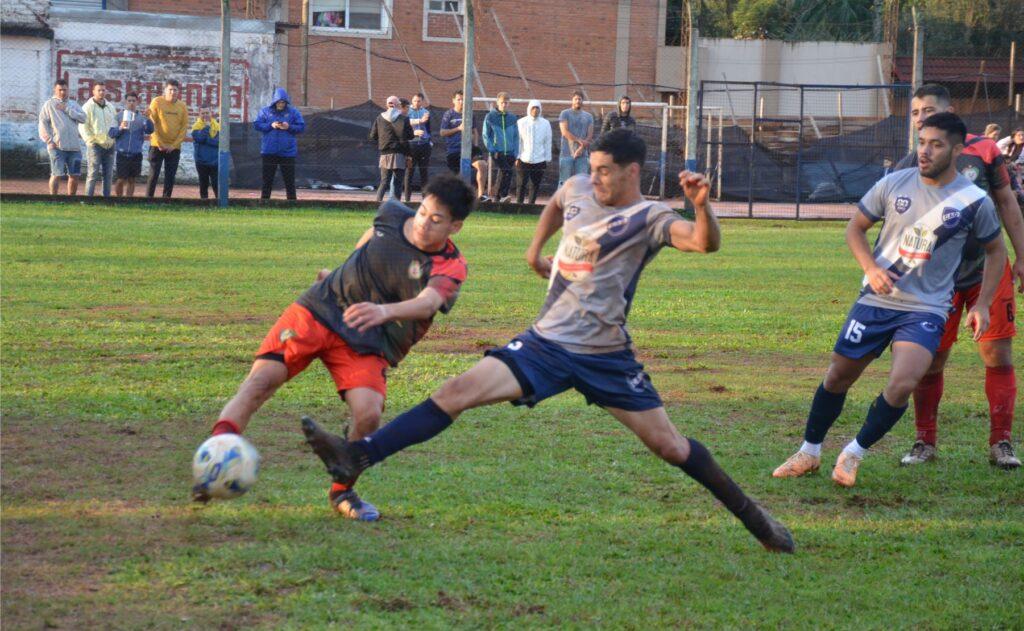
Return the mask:
<svg viewBox="0 0 1024 631">
<path fill-rule="evenodd" d="M 879 75 L 881 56 L 883 76 Z M 848 42 L 798 42 L 772 40 L 731 40 L 700 38 L 700 79 L 705 81 L 769 81 L 799 84 L 877 85 L 887 82 L 892 50 L 887 44 Z M 657 82 L 669 87 L 685 83 L 685 51 L 678 46 L 660 46 L 657 51 Z M 884 79 L 883 79 L 884 77 Z M 843 114 L 848 117 L 886 115 L 885 103 L 877 90 L 845 90 Z M 793 90 L 767 90 L 764 116 L 794 117 L 800 114 L 799 93 Z M 758 99 L 760 100 L 760 98 Z M 753 92 L 733 88 L 728 94 L 709 93 L 705 106 L 735 112 L 749 118 L 759 103 Z M 822 90 L 808 93 L 804 113 L 815 117 L 837 116 L 838 92 Z"/>
</svg>

